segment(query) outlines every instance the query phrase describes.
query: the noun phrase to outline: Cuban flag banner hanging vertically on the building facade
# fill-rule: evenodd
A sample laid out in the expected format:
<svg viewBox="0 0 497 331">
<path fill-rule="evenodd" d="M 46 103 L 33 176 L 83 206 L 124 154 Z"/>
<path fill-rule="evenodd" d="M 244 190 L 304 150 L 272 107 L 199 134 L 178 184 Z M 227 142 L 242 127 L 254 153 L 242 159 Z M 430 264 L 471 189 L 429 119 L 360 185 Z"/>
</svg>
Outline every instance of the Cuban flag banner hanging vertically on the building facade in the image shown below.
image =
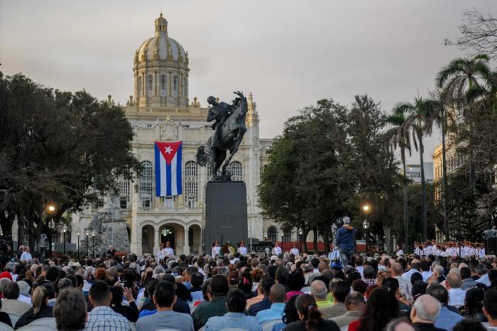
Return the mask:
<svg viewBox="0 0 497 331">
<path fill-rule="evenodd" d="M 155 195 L 182 194 L 182 141 L 155 141 Z"/>
</svg>

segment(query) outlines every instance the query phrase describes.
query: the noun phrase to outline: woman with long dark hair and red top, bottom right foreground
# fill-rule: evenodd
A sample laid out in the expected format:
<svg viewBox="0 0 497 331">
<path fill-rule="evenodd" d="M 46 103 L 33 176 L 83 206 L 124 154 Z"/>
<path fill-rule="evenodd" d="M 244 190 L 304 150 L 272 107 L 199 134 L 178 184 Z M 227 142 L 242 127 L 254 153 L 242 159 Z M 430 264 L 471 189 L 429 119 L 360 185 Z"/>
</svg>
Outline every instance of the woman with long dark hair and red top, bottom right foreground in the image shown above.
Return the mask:
<svg viewBox="0 0 497 331">
<path fill-rule="evenodd" d="M 388 322 L 399 315 L 394 293 L 379 286 L 374 288 L 366 303 L 366 310 L 359 320 L 349 324 L 349 331 L 383 331 Z"/>
</svg>

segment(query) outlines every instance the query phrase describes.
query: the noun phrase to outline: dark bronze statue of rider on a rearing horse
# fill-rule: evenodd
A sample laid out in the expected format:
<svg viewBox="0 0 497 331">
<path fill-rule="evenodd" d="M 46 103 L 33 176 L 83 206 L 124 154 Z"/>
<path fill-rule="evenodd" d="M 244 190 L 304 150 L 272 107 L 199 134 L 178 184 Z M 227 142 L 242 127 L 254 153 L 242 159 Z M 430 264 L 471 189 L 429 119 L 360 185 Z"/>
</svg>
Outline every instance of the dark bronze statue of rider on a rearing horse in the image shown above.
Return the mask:
<svg viewBox="0 0 497 331">
<path fill-rule="evenodd" d="M 214 134 L 207 139 L 205 146 L 200 146 L 197 151 L 197 164 L 212 165 L 212 178 L 214 180 L 231 180 L 229 162 L 238 151 L 241 140 L 247 131 L 245 116 L 247 114 L 247 99 L 243 92 L 234 92 L 238 95 L 231 104 L 217 102 L 215 97 L 208 97 L 211 105 L 207 113 L 207 121 L 214 121 L 212 129 Z M 229 158 L 226 158 L 229 151 Z M 221 172 L 219 173 L 219 168 Z"/>
</svg>

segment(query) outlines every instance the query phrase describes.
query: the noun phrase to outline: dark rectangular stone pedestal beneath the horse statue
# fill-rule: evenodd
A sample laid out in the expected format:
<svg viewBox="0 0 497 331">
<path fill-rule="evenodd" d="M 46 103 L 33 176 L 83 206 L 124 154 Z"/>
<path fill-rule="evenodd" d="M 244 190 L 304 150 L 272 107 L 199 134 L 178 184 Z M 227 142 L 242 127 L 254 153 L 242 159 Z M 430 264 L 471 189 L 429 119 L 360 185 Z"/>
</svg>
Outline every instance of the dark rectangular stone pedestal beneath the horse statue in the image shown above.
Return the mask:
<svg viewBox="0 0 497 331">
<path fill-rule="evenodd" d="M 205 192 L 204 252 L 212 244 L 247 241 L 247 190 L 241 181 L 210 181 Z"/>
</svg>

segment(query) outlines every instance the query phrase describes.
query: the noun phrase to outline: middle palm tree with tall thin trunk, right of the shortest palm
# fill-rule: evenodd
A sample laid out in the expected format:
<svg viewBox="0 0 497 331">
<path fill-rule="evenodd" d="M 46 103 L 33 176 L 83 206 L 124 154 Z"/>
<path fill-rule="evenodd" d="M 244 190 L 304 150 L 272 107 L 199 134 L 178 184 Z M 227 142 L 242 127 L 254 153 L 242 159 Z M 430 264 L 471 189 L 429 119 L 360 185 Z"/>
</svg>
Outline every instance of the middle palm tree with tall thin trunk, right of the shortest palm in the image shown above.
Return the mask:
<svg viewBox="0 0 497 331">
<path fill-rule="evenodd" d="M 422 210 L 422 229 L 423 240 L 427 240 L 427 197 L 426 197 L 426 181 L 425 181 L 425 165 L 423 164 L 423 153 L 425 147 L 422 143 L 423 135 L 432 134 L 433 123 L 437 116 L 437 109 L 432 99 L 422 99 L 417 97 L 413 104 L 409 102 L 400 102 L 393 109 L 394 114 L 405 114 L 406 121 L 404 125 L 405 131 L 411 131 L 413 134 L 413 143 L 416 151 L 420 152 L 420 170 L 421 170 L 421 210 Z"/>
</svg>

